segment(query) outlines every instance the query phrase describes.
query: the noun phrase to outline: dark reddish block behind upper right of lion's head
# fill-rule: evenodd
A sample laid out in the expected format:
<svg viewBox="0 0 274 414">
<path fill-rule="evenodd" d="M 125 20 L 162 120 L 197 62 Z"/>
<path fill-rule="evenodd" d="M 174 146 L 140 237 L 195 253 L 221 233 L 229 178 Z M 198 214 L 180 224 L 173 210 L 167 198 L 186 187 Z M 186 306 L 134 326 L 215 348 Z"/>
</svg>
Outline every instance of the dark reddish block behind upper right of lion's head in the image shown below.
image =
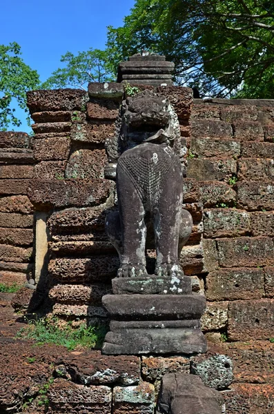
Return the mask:
<svg viewBox="0 0 274 414">
<path fill-rule="evenodd" d="M 189 119 L 193 106 L 193 90 L 182 86 L 158 86 L 157 92 L 168 97 L 179 119 Z"/>
</svg>

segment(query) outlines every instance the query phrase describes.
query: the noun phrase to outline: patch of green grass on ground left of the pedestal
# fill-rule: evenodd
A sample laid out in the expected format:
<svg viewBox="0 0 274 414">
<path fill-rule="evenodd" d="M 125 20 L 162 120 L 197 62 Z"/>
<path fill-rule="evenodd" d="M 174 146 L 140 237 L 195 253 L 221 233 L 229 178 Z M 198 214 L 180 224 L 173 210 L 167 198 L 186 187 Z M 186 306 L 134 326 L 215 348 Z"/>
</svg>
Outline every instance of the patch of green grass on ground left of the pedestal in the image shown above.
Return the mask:
<svg viewBox="0 0 274 414">
<path fill-rule="evenodd" d="M 72 322 L 60 326 L 57 317 L 41 318 L 37 321 L 29 321 L 26 328 L 21 328 L 17 337 L 23 339 L 35 339 L 38 345 L 55 344 L 66 346 L 69 350 L 77 347 L 94 348 L 101 344 L 106 334 L 104 326 L 79 325 L 72 327 Z"/>
</svg>

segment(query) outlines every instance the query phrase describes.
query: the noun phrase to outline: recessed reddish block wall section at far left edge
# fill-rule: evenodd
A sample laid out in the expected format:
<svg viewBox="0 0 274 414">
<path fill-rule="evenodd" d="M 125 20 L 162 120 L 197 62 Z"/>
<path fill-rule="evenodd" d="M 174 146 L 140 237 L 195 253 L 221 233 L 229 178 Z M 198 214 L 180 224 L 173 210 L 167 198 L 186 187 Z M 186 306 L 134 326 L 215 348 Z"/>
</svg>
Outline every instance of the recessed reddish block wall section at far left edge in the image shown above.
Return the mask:
<svg viewBox="0 0 274 414">
<path fill-rule="evenodd" d="M 31 141 L 25 132 L 0 132 L 0 283 L 6 286 L 32 279 Z"/>
</svg>

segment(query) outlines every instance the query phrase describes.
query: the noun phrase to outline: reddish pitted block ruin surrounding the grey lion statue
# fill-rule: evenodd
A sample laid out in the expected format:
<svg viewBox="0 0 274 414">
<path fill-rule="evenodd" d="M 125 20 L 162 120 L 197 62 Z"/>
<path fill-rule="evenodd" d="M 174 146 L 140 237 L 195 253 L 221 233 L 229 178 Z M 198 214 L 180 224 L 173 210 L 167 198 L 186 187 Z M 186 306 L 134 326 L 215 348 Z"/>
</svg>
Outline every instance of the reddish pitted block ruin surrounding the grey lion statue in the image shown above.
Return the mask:
<svg viewBox="0 0 274 414">
<path fill-rule="evenodd" d="M 147 77 L 170 75 L 172 64 L 152 62 L 136 57 L 130 65 L 122 63 L 124 79 L 119 81 L 126 84 L 91 83 L 88 92 L 29 92 L 35 136 L 0 133 L 0 282 L 28 286 L 8 299 L 0 294 L 8 321 L 0 324 L 3 413 L 20 412 L 26 395 L 37 389 L 37 378 L 43 383 L 54 377 L 48 413 L 152 414 L 165 373 L 199 375 L 222 394 L 227 414 L 273 411 L 274 103 L 193 101 L 192 91 L 173 86 L 170 78 Z M 137 76 L 141 70 L 142 79 Z M 193 219 L 179 255 L 181 286 L 191 295 L 191 282 L 201 304 L 206 296 L 201 328 L 208 351 L 113 356 L 99 351 L 75 355 L 47 346 L 36 350 L 31 342 L 12 339 L 18 322 L 11 300 L 15 308 L 33 311 L 46 293 L 52 314 L 93 324 L 109 319 L 102 297 L 130 298 L 144 287 L 144 282 L 136 287 L 116 277 L 119 257 L 104 230 L 107 215 L 117 211 L 116 119 L 128 84 L 133 88 L 136 83 L 139 92 L 164 95 L 179 121 L 173 150 L 186 175 L 183 208 Z M 146 248 L 150 275 L 154 247 Z M 151 276 L 150 289 L 151 296 L 165 296 L 162 279 L 156 283 Z M 33 300 L 35 293 L 39 300 Z M 173 295 L 175 301 L 178 296 Z M 140 308 L 144 311 L 141 303 Z M 128 316 L 111 319 L 110 333 L 130 323 Z M 152 326 L 153 319 L 148 321 Z M 26 364 L 34 352 L 37 362 Z"/>
</svg>

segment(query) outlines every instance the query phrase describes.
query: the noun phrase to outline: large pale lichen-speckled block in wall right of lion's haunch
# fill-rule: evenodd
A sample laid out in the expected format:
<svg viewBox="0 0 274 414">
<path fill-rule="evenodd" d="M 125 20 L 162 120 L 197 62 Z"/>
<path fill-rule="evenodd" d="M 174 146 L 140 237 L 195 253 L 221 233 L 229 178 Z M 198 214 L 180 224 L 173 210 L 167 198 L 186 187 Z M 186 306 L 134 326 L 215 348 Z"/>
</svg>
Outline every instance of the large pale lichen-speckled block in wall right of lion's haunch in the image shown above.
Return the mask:
<svg viewBox="0 0 274 414">
<path fill-rule="evenodd" d="M 204 237 L 239 237 L 250 232 L 250 215 L 235 208 L 204 210 Z"/>
</svg>

